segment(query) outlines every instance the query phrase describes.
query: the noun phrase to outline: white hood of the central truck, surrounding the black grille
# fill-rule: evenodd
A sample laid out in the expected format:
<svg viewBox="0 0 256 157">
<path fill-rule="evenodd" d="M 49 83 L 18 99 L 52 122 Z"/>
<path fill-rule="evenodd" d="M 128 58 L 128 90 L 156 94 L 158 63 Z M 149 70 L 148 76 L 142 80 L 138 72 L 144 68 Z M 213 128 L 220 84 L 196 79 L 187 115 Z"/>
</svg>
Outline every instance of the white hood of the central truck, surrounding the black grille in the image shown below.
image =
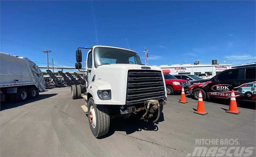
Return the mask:
<svg viewBox="0 0 256 157">
<path fill-rule="evenodd" d="M 126 104 L 127 79 L 129 70 L 157 70 L 162 74 L 162 78 L 164 78 L 163 71 L 159 67 L 138 64 L 101 65 L 95 69 L 94 73 L 90 73 L 90 77 L 88 79 L 93 79 L 94 81 L 90 83 L 92 88 L 88 88 L 87 91 L 90 92 L 95 90 L 93 93 L 97 93 L 97 90 L 111 90 L 112 99 L 101 101 L 99 100 L 98 95 L 95 94 L 93 96 L 95 98 L 94 103 L 111 105 Z M 166 89 L 164 79 L 163 83 Z M 166 90 L 165 96 L 167 97 Z"/>
</svg>

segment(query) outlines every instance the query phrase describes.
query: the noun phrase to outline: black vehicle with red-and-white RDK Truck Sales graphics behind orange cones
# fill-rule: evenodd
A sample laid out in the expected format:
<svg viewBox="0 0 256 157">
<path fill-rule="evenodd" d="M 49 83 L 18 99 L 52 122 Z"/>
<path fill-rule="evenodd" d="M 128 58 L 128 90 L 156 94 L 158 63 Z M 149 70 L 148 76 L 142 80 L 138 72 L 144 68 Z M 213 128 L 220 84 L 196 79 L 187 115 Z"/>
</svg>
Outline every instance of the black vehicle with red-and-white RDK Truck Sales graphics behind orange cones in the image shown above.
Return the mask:
<svg viewBox="0 0 256 157">
<path fill-rule="evenodd" d="M 189 93 L 198 100 L 199 90 L 202 92 L 203 100 L 210 97 L 226 98 L 231 97 L 231 90 L 234 90 L 236 99 L 253 100 L 251 97 L 238 95 L 239 87 L 246 87 L 248 84 L 256 83 L 256 67 L 232 68 L 217 74 L 209 80 L 192 81 L 189 86 Z"/>
</svg>

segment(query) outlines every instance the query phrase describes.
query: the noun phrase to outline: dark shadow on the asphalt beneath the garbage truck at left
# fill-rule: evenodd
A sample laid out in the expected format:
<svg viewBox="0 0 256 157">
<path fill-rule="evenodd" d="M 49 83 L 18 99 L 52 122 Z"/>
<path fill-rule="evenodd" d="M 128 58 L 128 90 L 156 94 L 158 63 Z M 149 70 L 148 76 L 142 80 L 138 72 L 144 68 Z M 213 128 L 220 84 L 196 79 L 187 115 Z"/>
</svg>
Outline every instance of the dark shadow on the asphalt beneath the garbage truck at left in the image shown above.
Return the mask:
<svg viewBox="0 0 256 157">
<path fill-rule="evenodd" d="M 57 95 L 57 93 L 40 94 L 35 99 L 30 99 L 30 100 L 26 100 L 26 101 L 22 101 L 22 102 L 1 102 L 0 111 L 7 110 L 7 109 L 10 109 L 10 108 L 19 107 L 19 106 L 22 106 L 22 105 L 25 105 L 25 104 L 28 104 L 28 103 L 38 101 L 38 100 L 47 99 L 47 98 L 50 98 L 50 97 L 55 96 L 55 95 Z"/>
</svg>

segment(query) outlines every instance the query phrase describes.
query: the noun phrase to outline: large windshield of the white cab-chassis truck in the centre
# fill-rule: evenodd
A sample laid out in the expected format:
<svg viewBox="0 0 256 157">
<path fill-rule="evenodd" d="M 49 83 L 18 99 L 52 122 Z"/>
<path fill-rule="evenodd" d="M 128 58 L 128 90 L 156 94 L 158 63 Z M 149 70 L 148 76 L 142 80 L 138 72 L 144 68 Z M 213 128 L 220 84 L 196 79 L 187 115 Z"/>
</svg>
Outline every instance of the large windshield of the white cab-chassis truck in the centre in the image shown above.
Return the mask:
<svg viewBox="0 0 256 157">
<path fill-rule="evenodd" d="M 106 64 L 141 64 L 137 53 L 111 47 L 96 47 L 94 49 L 95 66 Z"/>
</svg>

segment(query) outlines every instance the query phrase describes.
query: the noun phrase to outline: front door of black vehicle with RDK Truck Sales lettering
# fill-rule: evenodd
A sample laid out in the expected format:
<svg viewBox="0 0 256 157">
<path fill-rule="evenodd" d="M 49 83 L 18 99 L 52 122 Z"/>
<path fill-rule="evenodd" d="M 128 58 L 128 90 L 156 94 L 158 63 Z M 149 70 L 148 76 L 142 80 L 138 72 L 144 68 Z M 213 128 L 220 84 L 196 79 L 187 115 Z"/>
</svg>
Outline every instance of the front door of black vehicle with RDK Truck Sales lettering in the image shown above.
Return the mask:
<svg viewBox="0 0 256 157">
<path fill-rule="evenodd" d="M 240 86 L 241 69 L 223 71 L 211 79 L 209 83 L 209 96 L 229 97 L 234 87 Z M 237 91 L 236 91 L 237 92 Z"/>
</svg>

